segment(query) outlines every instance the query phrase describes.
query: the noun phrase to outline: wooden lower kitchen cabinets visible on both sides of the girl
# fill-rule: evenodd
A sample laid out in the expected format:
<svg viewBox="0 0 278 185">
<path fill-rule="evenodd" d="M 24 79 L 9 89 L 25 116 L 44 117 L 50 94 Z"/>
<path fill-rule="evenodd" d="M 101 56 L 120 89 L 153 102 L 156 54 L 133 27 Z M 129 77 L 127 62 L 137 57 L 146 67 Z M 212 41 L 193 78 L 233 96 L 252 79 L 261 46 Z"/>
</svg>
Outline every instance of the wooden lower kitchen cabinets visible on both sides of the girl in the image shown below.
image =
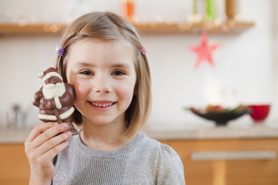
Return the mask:
<svg viewBox="0 0 278 185">
<path fill-rule="evenodd" d="M 180 155 L 187 185 L 278 184 L 278 138 L 160 141 L 171 146 Z M 28 184 L 30 167 L 24 144 L 2 144 L 0 151 L 0 184 Z M 211 154 L 208 159 L 204 159 L 204 156 L 201 159 L 192 156 L 194 153 L 204 152 Z M 223 152 L 232 154 L 232 158 L 237 152 L 249 152 L 251 158 L 243 155 L 242 159 L 240 156 L 236 156 L 237 159 L 224 159 L 220 155 L 217 159 L 217 154 Z M 256 152 L 270 155 L 252 158 L 252 154 Z"/>
</svg>

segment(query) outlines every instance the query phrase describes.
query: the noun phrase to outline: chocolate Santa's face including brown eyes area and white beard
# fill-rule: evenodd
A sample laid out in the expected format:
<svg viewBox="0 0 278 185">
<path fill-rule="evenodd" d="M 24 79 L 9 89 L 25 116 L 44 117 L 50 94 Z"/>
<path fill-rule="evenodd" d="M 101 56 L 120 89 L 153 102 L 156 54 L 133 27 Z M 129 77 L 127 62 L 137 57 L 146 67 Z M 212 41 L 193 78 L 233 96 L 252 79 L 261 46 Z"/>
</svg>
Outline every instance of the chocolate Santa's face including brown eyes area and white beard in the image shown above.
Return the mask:
<svg viewBox="0 0 278 185">
<path fill-rule="evenodd" d="M 61 97 L 66 92 L 66 87 L 63 81 L 56 77 L 52 76 L 45 80 L 42 88 L 42 94 L 45 99 L 51 99 L 56 96 Z"/>
</svg>

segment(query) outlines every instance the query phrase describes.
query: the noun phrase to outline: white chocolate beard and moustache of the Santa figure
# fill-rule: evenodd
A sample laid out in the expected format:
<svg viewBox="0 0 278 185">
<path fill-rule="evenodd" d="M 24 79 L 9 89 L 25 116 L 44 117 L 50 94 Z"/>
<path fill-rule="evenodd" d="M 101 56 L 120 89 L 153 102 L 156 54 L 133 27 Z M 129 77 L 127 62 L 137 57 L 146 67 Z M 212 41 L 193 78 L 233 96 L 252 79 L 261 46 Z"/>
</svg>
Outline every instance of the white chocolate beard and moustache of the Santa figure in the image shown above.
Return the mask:
<svg viewBox="0 0 278 185">
<path fill-rule="evenodd" d="M 42 88 L 42 94 L 44 98 L 51 99 L 56 96 L 61 97 L 66 92 L 66 86 L 65 83 L 50 83 L 50 84 L 44 84 Z"/>
</svg>

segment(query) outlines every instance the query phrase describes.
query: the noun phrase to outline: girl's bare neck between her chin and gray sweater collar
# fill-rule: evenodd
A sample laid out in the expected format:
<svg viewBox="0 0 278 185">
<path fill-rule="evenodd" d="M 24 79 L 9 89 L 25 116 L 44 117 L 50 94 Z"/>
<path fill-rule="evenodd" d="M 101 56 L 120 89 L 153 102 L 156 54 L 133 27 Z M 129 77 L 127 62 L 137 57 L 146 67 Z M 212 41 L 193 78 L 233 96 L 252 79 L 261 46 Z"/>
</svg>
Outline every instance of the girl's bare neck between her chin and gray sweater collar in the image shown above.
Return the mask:
<svg viewBox="0 0 278 185">
<path fill-rule="evenodd" d="M 96 125 L 89 120 L 83 119 L 82 125 L 83 128 L 80 132 L 80 138 L 89 148 L 103 151 L 115 151 L 123 148 L 129 142 L 121 138 L 126 130 L 124 123 Z"/>
</svg>

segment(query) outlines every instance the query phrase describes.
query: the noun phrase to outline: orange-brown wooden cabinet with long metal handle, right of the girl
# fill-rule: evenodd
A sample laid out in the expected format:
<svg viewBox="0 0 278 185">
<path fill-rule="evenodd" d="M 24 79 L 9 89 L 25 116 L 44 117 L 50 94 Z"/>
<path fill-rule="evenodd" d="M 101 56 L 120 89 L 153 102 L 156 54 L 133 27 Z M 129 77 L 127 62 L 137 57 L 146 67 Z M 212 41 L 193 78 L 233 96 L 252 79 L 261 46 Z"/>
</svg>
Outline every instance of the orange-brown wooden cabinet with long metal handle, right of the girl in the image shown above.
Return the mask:
<svg viewBox="0 0 278 185">
<path fill-rule="evenodd" d="M 171 140 L 181 157 L 186 184 L 189 185 L 277 185 L 278 139 Z M 204 153 L 208 159 L 194 160 L 192 154 Z M 224 159 L 221 155 L 234 155 Z M 244 154 L 248 154 L 248 156 Z M 264 154 L 257 156 L 256 154 Z M 219 159 L 211 159 L 216 155 Z M 238 156 L 236 154 L 239 154 Z M 252 155 L 254 154 L 254 155 Z M 242 155 L 240 157 L 240 155 Z M 230 156 L 230 157 L 231 157 Z M 253 157 L 252 157 L 253 156 Z M 251 158 L 250 158 L 251 157 Z M 261 157 L 261 158 L 260 158 Z M 229 158 L 229 155 L 228 155 Z M 233 157 L 231 157 L 233 158 Z"/>
</svg>

